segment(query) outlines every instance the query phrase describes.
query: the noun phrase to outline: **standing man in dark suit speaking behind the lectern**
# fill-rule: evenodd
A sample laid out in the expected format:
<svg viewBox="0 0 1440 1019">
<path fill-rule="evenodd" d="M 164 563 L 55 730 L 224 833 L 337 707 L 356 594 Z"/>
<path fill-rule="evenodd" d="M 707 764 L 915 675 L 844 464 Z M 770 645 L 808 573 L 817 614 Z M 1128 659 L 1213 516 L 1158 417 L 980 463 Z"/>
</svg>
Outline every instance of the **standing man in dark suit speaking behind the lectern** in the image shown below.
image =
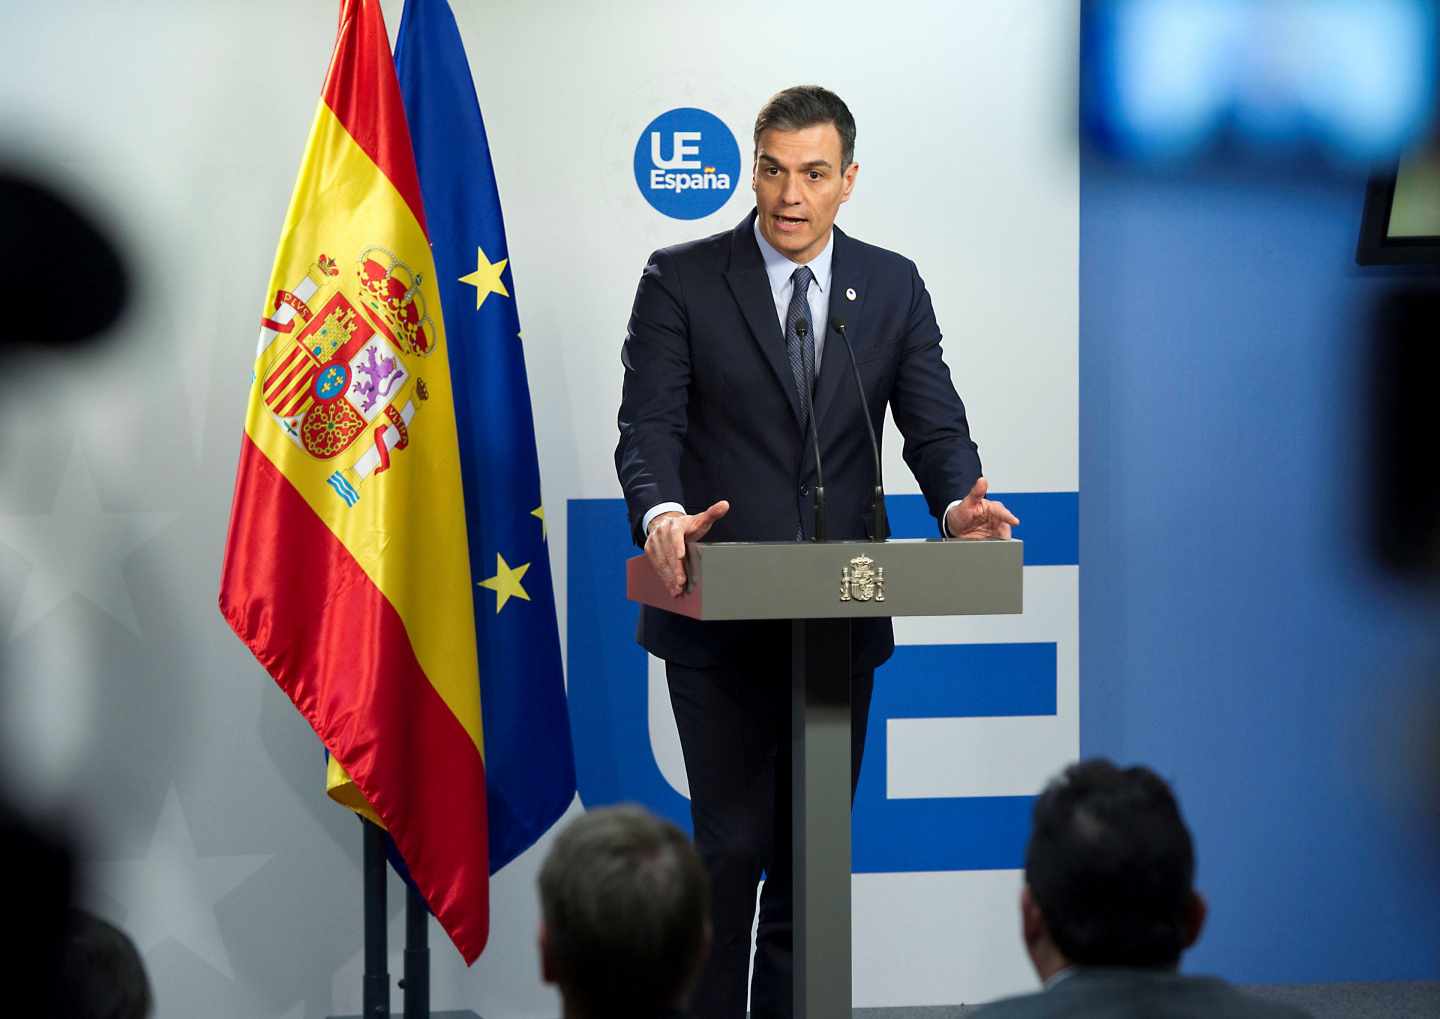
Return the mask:
<svg viewBox="0 0 1440 1019">
<path fill-rule="evenodd" d="M 615 463 L 634 538 L 675 596 L 687 540 L 814 537 L 812 413 L 827 537 L 865 537 L 877 479 L 845 337 L 874 430 L 888 404 L 942 534 L 1008 538 L 1018 522 L 985 498 L 914 265 L 834 226 L 860 170 L 854 144 L 840 96 L 816 86 L 779 92 L 755 122 L 755 212 L 734 230 L 655 252 L 641 276 Z M 696 843 L 711 877 L 714 950 L 694 1009 L 704 1019 L 743 1018 L 765 872 L 750 1012 L 789 1016 L 789 628 L 642 607 L 638 639 L 665 659 Z M 894 648 L 890 620 L 855 622 L 851 643 L 854 789 L 874 669 Z"/>
</svg>

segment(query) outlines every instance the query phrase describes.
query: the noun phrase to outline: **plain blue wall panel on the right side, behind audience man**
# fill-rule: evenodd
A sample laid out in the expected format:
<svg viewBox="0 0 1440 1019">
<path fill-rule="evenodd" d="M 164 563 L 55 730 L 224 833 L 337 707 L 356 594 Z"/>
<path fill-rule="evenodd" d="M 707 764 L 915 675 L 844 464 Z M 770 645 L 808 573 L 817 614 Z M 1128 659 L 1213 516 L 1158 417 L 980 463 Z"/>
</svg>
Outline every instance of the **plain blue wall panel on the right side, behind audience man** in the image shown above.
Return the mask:
<svg viewBox="0 0 1440 1019">
<path fill-rule="evenodd" d="M 1365 554 L 1384 281 L 1352 263 L 1364 181 L 1277 170 L 1083 163 L 1080 746 L 1178 789 L 1191 969 L 1436 979 L 1440 628 Z"/>
</svg>

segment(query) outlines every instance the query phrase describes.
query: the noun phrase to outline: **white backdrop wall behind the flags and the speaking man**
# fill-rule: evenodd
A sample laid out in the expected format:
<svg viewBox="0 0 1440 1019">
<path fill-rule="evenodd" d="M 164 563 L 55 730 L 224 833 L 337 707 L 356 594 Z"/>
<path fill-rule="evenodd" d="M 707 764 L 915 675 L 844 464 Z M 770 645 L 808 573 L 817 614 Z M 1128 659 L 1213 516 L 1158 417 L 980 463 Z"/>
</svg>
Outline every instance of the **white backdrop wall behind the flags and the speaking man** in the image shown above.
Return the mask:
<svg viewBox="0 0 1440 1019">
<path fill-rule="evenodd" d="M 0 158 L 112 225 L 137 278 L 104 348 L 12 363 L 0 406 L 3 761 L 12 794 L 65 809 L 86 832 L 88 898 L 135 936 L 160 1016 L 359 1012 L 357 825 L 324 799 L 318 744 L 215 609 L 255 320 L 336 7 L 174 0 L 0 14 Z M 400 3 L 384 7 L 393 33 Z M 749 125 L 770 92 L 816 81 L 844 95 L 861 173 L 840 225 L 919 263 L 992 484 L 1077 489 L 1074 4 L 455 9 L 507 214 L 562 632 L 576 540 L 564 508 L 619 495 L 618 351 L 645 256 L 750 207 L 746 181 L 698 222 L 644 201 L 635 142 L 675 107 L 724 121 L 747 166 Z M 893 439 L 886 476 L 891 492 L 916 491 Z M 1076 756 L 1077 566 L 1027 567 L 1025 581 L 1021 617 L 912 620 L 897 636 L 1053 646 L 1053 707 L 891 718 L 884 760 L 867 760 L 867 773 L 883 766 L 881 799 L 1022 796 Z M 638 738 L 683 790 L 649 675 Z M 1012 865 L 933 866 L 883 848 L 901 864 L 854 885 L 857 1005 L 1031 986 Z M 472 969 L 436 930 L 436 1007 L 559 1013 L 534 951 L 540 851 L 495 878 L 491 946 Z"/>
</svg>

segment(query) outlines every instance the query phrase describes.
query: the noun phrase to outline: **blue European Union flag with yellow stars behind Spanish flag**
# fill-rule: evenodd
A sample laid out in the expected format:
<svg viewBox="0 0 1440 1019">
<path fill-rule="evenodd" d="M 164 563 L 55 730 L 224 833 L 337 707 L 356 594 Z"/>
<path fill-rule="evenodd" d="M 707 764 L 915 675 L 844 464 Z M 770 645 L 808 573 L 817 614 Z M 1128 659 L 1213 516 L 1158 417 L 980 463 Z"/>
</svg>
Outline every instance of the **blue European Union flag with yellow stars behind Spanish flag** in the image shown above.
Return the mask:
<svg viewBox="0 0 1440 1019">
<path fill-rule="evenodd" d="M 406 0 L 395 63 L 455 389 L 495 872 L 575 797 L 534 416 L 485 124 L 445 0 Z"/>
</svg>

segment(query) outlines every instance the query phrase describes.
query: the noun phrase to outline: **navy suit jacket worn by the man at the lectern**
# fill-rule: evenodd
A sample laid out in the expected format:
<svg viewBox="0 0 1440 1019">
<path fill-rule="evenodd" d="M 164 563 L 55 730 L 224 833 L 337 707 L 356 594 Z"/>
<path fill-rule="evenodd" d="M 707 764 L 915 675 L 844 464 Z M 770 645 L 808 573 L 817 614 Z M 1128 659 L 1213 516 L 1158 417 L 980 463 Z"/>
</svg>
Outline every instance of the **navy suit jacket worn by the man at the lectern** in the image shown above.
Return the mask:
<svg viewBox="0 0 1440 1019">
<path fill-rule="evenodd" d="M 625 386 L 615 468 L 632 537 L 661 502 L 730 512 L 707 541 L 793 541 L 814 525 L 815 453 L 801 430 L 785 335 L 755 240 L 755 212 L 726 233 L 655 252 L 641 275 L 625 334 Z M 829 322 L 845 322 L 876 435 L 888 404 L 904 459 L 936 521 L 981 475 L 965 406 L 940 355 L 930 295 L 909 259 L 834 233 Z M 854 294 L 854 298 L 850 295 Z M 815 383 L 825 475 L 827 537 L 865 538 L 874 458 L 844 343 L 831 330 Z M 775 623 L 701 623 L 641 607 L 638 639 L 665 661 L 694 666 L 788 655 Z M 857 669 L 894 648 L 888 619 L 857 620 Z M 788 658 L 782 659 L 788 661 Z"/>
</svg>

